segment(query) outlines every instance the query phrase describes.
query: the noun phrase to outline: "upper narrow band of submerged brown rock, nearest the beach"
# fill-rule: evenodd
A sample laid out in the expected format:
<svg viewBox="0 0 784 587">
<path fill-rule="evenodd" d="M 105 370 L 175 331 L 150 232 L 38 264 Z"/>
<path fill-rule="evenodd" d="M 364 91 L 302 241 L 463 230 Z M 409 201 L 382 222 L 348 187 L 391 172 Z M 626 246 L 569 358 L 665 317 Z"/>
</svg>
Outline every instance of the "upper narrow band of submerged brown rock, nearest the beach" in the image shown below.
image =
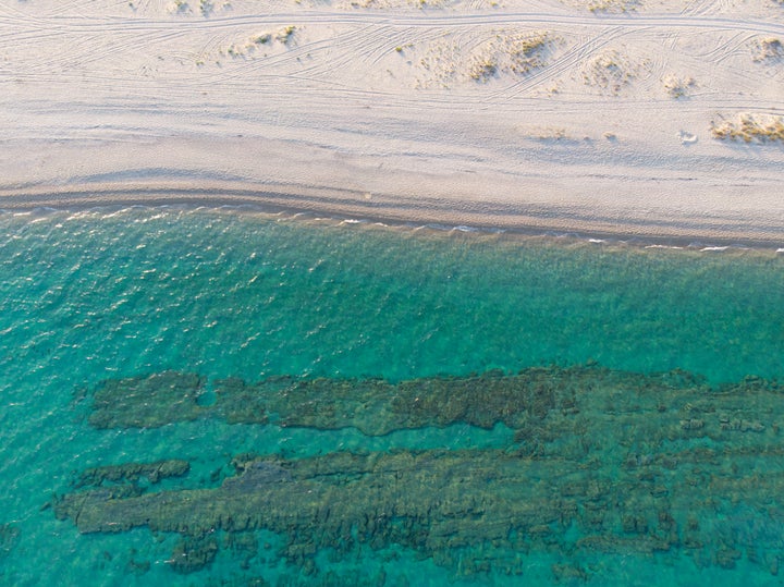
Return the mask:
<svg viewBox="0 0 784 587">
<path fill-rule="evenodd" d="M 586 402 L 605 402 L 610 414 L 636 405 L 637 411 L 658 411 L 658 419 L 666 419 L 669 427 L 674 424 L 683 431 L 715 436 L 722 430 L 762 431 L 764 424 L 745 417 L 748 405 L 739 404 L 726 404 L 724 413 L 702 420 L 701 406 L 715 412 L 706 404 L 707 398 L 738 393 L 752 398 L 757 391 L 779 390 L 775 381 L 749 379 L 711 389 L 684 371 L 642 375 L 597 366 L 534 367 L 517 375 L 490 371 L 399 383 L 294 377 L 248 383 L 231 378 L 217 380 L 213 387 L 215 403 L 200 405 L 207 383 L 197 375 L 166 371 L 108 380 L 94 393 L 89 423 L 96 428 L 155 428 L 217 417 L 230 424 L 271 421 L 321 430 L 354 427 L 368 436 L 383 436 L 394 430 L 458 423 L 486 429 L 499 423 L 514 429 L 530 428 L 553 412 L 576 415 L 585 409 Z M 687 404 L 691 407 L 684 413 L 682 407 Z M 663 409 L 658 409 L 660 406 Z M 620 412 L 617 415 L 623 417 Z"/>
</svg>

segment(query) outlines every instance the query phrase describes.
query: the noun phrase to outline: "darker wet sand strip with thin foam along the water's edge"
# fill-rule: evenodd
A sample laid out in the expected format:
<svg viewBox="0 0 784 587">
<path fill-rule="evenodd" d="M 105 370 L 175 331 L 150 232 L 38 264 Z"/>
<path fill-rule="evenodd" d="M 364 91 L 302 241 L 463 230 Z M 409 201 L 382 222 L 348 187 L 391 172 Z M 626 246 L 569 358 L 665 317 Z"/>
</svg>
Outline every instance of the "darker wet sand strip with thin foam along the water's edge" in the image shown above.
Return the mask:
<svg viewBox="0 0 784 587">
<path fill-rule="evenodd" d="M 672 248 L 730 248 L 784 252 L 784 235 L 776 237 L 775 225 L 758 227 L 755 234 L 740 230 L 728 231 L 718 220 L 700 223 L 700 218 L 665 218 L 659 223 L 633 219 L 618 222 L 608 230 L 607 218 L 597 216 L 560 217 L 552 209 L 516 209 L 509 201 L 462 200 L 460 209 L 441 206 L 421 206 L 424 198 L 412 201 L 401 196 L 373 195 L 331 188 L 292 188 L 285 186 L 204 186 L 185 187 L 167 185 L 105 185 L 62 186 L 60 189 L 0 191 L 0 212 L 82 211 L 101 208 L 133 206 L 186 208 L 234 208 L 242 212 L 247 207 L 261 213 L 311 215 L 335 221 L 383 223 L 391 227 L 409 225 L 415 229 L 438 231 L 457 230 L 465 233 L 505 233 L 522 236 L 574 237 L 579 241 L 600 241 L 627 245 L 661 246 Z M 436 200 L 437 203 L 439 200 Z M 417 206 L 420 204 L 420 206 Z M 455 204 L 455 203 L 448 203 Z M 618 210 L 613 210 L 617 212 Z M 635 221 L 637 220 L 637 221 Z M 719 219 L 726 220 L 726 219 Z"/>
</svg>

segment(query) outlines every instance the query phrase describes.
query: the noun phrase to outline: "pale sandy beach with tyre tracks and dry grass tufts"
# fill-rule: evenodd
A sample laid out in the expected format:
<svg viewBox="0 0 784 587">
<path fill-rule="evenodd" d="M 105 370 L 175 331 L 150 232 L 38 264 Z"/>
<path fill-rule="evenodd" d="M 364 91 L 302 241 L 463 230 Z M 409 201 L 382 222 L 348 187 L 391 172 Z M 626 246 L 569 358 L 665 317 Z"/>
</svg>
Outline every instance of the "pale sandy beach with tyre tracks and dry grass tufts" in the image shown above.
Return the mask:
<svg viewBox="0 0 784 587">
<path fill-rule="evenodd" d="M 9 0 L 0 209 L 784 243 L 784 4 Z"/>
</svg>

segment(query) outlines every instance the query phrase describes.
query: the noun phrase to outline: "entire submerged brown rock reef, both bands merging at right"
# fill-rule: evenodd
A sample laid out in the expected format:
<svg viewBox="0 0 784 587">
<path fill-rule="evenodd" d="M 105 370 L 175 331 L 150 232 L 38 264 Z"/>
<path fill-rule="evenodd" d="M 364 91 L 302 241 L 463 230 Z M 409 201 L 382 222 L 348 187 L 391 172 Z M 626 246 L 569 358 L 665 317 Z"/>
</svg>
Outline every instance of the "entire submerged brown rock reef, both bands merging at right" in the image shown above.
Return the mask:
<svg viewBox="0 0 784 587">
<path fill-rule="evenodd" d="M 52 510 L 81 533 L 179 535 L 169 563 L 183 574 L 220 553 L 248 568 L 272 549 L 270 565 L 297 570 L 291 583 L 340 583 L 346 577 L 324 568 L 324 557 L 371 552 L 394 564 L 402 548 L 454 580 L 524 576 L 542 553 L 558 561 L 550 572 L 562 584 L 608 573 L 601 561 L 612 555 L 725 570 L 743 560 L 779 575 L 783 392 L 776 380 L 711 386 L 682 370 L 596 364 L 400 382 L 207 381 L 176 371 L 112 379 L 77 392 L 93 428 L 216 418 L 367 437 L 454 424 L 514 435 L 493 448 L 234 454 L 232 474 L 212 487 L 188 485 L 189 464 L 175 454 L 139 454 L 75 472 Z M 166 487 L 171 478 L 180 485 Z M 260 531 L 279 541 L 264 543 Z M 383 572 L 351 580 L 392 583 Z"/>
</svg>

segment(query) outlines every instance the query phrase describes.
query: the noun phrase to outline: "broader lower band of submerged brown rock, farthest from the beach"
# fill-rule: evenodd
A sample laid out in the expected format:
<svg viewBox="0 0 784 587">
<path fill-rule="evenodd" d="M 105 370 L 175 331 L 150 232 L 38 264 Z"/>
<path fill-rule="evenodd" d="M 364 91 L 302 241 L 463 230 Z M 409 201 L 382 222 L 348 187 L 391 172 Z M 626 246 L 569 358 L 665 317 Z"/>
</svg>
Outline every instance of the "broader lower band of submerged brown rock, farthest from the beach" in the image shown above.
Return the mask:
<svg viewBox="0 0 784 587">
<path fill-rule="evenodd" d="M 781 460 L 782 453 L 767 456 Z M 580 466 L 503 450 L 266 456 L 238 461 L 237 475 L 216 489 L 126 499 L 75 492 L 56 512 L 83 533 L 139 526 L 179 533 L 182 552 L 173 560 L 181 572 L 215 555 L 217 542 L 204 537 L 261 528 L 284 535 L 281 554 L 299 566 L 320 549 L 345 553 L 358 543 L 402 545 L 455 574 L 470 574 L 464 557 L 477 570 L 520 573 L 519 554 L 532 550 L 684 553 L 722 566 L 754 552 L 777 565 L 784 545 L 775 528 L 784 511 L 771 505 L 781 500 L 784 472 L 738 476 L 740 463 L 750 464 L 738 454 L 700 452 L 640 466 Z M 514 563 L 510 553 L 518 553 Z"/>
</svg>

